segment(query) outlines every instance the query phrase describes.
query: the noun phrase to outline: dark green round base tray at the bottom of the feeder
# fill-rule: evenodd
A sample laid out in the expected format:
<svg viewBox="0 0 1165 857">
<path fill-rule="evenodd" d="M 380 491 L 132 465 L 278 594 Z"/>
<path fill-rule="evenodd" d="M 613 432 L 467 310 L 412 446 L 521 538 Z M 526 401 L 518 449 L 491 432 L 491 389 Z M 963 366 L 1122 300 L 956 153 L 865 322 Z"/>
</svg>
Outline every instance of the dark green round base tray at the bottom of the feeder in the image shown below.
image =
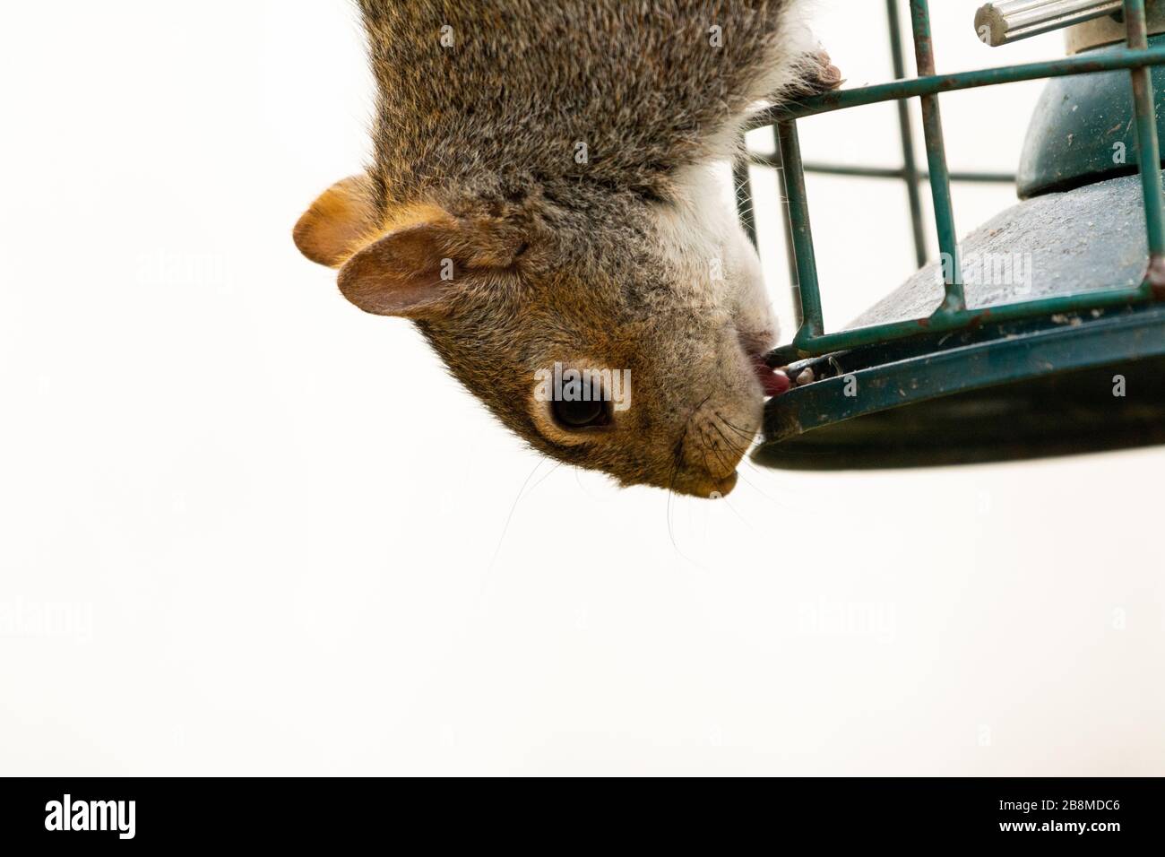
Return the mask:
<svg viewBox="0 0 1165 857">
<path fill-rule="evenodd" d="M 1165 443 L 1165 305 L 988 324 L 802 365 L 822 379 L 769 402 L 758 464 L 935 466 Z"/>
</svg>

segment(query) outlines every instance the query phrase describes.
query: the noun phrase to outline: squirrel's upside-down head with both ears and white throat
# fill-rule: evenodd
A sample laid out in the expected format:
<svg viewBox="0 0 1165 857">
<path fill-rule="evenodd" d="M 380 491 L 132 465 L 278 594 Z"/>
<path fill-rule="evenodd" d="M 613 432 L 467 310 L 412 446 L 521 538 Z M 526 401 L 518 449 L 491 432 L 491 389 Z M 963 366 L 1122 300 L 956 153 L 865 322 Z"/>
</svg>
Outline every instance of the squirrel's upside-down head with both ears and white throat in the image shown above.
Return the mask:
<svg viewBox="0 0 1165 857">
<path fill-rule="evenodd" d="M 535 449 L 623 485 L 725 496 L 776 339 L 760 265 L 711 174 L 668 199 L 537 182 L 389 203 L 346 178 L 301 217 L 360 309 L 417 323 Z M 570 204 L 563 204 L 569 199 Z"/>
</svg>

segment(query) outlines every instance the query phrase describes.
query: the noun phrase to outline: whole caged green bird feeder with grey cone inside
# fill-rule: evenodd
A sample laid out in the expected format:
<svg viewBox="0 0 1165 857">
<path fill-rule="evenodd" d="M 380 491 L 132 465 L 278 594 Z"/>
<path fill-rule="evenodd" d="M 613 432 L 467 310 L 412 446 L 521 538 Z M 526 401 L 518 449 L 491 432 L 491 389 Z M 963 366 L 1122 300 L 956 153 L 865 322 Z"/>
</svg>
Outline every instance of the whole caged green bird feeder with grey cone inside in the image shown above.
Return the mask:
<svg viewBox="0 0 1165 857">
<path fill-rule="evenodd" d="M 1014 0 L 975 15 L 998 50 L 1064 29 L 1068 56 L 935 75 L 926 0 L 911 0 L 918 77 L 905 79 L 895 0 L 887 1 L 891 83 L 769 111 L 788 201 L 798 330 L 769 356 L 812 379 L 765 408 L 761 464 L 785 469 L 998 462 L 1165 443 L 1165 217 L 1156 93 L 1165 90 L 1165 0 Z M 970 10 L 968 9 L 968 23 Z M 1016 176 L 947 169 L 944 92 L 1047 78 Z M 922 105 L 916 163 L 908 99 Z M 901 169 L 802 159 L 806 117 L 896 101 Z M 806 171 L 905 182 L 919 271 L 848 326 L 827 331 Z M 746 230 L 748 164 L 736 168 Z M 960 241 L 952 182 L 1015 182 L 1021 202 Z M 922 188 L 939 258 L 926 261 Z M 1017 259 L 1025 276 L 1008 276 Z M 990 269 L 969 272 L 967 260 Z M 1010 262 L 1009 262 L 1010 260 Z M 974 275 L 968 275 L 968 274 Z M 1002 275 L 1000 275 L 1002 274 Z M 810 370 L 810 372 L 806 372 Z"/>
</svg>

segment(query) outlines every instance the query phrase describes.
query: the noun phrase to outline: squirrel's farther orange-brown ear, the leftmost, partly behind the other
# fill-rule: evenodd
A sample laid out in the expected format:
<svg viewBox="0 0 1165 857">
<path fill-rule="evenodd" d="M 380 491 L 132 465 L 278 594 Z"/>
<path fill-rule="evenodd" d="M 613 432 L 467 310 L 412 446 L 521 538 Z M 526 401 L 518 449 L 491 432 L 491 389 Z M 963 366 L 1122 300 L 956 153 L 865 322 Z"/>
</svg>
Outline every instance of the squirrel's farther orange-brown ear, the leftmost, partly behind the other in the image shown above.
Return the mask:
<svg viewBox="0 0 1165 857">
<path fill-rule="evenodd" d="M 295 246 L 313 262 L 338 268 L 377 230 L 372 182 L 348 176 L 319 195 L 291 232 Z"/>
</svg>

